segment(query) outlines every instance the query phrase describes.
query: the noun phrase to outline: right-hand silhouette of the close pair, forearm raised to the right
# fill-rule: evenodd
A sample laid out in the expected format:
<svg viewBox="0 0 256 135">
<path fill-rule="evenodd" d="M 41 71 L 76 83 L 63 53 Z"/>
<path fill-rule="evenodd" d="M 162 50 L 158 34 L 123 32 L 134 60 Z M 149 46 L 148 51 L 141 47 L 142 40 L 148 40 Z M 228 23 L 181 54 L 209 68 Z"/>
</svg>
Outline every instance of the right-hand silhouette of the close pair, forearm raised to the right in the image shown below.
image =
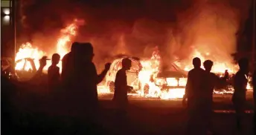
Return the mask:
<svg viewBox="0 0 256 135">
<path fill-rule="evenodd" d="M 212 113 L 212 103 L 213 103 L 213 92 L 214 88 L 224 88 L 226 85 L 226 80 L 228 79 L 228 71 L 225 70 L 225 76 L 219 77 L 214 73 L 211 73 L 211 68 L 214 65 L 214 62 L 211 60 L 206 60 L 204 63 L 205 73 L 206 73 L 206 83 L 205 83 L 205 91 L 204 91 L 204 98 L 205 98 L 205 125 L 210 132 L 212 131 L 212 123 L 211 123 L 211 113 Z"/>
</svg>

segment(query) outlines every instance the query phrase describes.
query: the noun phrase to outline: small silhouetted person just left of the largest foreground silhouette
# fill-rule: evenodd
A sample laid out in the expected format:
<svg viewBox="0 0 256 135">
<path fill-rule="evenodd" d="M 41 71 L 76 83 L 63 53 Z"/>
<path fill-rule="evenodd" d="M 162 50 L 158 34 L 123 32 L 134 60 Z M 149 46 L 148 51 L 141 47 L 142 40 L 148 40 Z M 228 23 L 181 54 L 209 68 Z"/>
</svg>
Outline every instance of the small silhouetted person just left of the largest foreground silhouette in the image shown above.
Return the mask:
<svg viewBox="0 0 256 135">
<path fill-rule="evenodd" d="M 60 68 L 57 66 L 60 62 L 60 55 L 54 53 L 51 56 L 51 66 L 48 68 L 48 87 L 50 90 L 56 90 L 60 85 Z"/>
</svg>

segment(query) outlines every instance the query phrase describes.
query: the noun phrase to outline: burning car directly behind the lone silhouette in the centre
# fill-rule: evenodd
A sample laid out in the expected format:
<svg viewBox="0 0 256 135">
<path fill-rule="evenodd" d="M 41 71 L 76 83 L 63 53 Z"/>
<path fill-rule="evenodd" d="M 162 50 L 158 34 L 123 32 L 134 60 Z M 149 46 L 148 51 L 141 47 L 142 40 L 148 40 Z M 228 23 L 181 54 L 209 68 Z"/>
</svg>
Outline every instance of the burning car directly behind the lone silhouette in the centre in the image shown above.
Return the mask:
<svg viewBox="0 0 256 135">
<path fill-rule="evenodd" d="M 106 86 L 110 92 L 115 90 L 115 75 L 122 68 L 122 60 L 128 58 L 132 61 L 132 67 L 127 71 L 127 85 L 133 87 L 133 92 L 140 89 L 140 82 L 138 80 L 138 73 L 142 69 L 140 59 L 130 56 L 121 56 L 121 58 L 115 59 L 110 66 L 109 72 L 106 74 Z"/>
</svg>

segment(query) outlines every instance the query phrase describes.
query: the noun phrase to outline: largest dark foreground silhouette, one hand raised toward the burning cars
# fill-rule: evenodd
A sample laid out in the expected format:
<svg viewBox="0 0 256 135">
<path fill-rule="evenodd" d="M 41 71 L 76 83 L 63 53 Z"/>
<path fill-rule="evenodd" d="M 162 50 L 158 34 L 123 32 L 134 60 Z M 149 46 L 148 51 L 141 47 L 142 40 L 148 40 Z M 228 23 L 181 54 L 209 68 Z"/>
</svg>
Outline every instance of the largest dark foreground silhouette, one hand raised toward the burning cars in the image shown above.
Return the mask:
<svg viewBox="0 0 256 135">
<path fill-rule="evenodd" d="M 92 62 L 94 57 L 91 43 L 79 43 L 77 50 L 68 59 L 73 69 L 67 72 L 69 86 L 66 93 L 66 107 L 68 115 L 74 116 L 78 122 L 82 122 L 81 130 L 89 130 L 95 133 L 98 128 L 98 98 L 97 84 L 106 76 L 110 68 L 110 63 L 105 65 L 105 69 L 100 75 L 97 74 L 95 64 Z M 69 69 L 68 69 L 69 70 Z M 83 125 L 86 124 L 86 129 Z"/>
</svg>

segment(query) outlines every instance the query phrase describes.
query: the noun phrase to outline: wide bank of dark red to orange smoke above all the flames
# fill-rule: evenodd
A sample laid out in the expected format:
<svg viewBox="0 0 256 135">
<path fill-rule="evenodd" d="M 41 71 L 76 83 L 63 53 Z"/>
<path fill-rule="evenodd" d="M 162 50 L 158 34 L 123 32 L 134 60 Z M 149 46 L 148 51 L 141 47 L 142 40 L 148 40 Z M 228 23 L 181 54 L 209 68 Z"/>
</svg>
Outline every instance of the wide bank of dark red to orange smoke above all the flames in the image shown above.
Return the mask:
<svg viewBox="0 0 256 135">
<path fill-rule="evenodd" d="M 148 57 L 156 46 L 165 65 L 177 58 L 191 58 L 194 50 L 213 54 L 211 59 L 231 62 L 236 33 L 246 19 L 248 6 L 249 0 L 115 4 L 33 0 L 23 3 L 23 33 L 51 52 L 59 30 L 74 18 L 84 19 L 86 25 L 80 27 L 74 40 L 92 42 L 98 67 L 120 53 Z"/>
</svg>

